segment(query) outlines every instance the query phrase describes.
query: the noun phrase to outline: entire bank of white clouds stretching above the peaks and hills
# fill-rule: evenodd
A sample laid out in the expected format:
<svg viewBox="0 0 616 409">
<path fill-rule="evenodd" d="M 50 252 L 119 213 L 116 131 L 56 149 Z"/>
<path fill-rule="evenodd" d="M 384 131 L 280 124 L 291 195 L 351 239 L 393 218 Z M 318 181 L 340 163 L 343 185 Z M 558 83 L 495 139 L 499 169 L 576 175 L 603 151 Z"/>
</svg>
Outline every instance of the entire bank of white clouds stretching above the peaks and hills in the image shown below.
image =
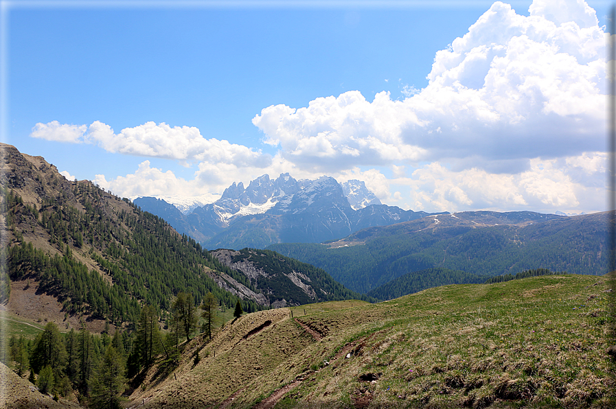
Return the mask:
<svg viewBox="0 0 616 409">
<path fill-rule="evenodd" d="M 383 202 L 415 210 L 604 209 L 605 38 L 585 1 L 536 0 L 529 16 L 497 1 L 448 49 L 429 84 L 404 100 L 383 91 L 263 108 L 260 148 L 147 122 L 36 124 L 31 137 L 196 166 L 193 180 L 139 165 L 95 182 L 120 196 L 222 191 L 268 173 L 364 180 Z"/>
</svg>

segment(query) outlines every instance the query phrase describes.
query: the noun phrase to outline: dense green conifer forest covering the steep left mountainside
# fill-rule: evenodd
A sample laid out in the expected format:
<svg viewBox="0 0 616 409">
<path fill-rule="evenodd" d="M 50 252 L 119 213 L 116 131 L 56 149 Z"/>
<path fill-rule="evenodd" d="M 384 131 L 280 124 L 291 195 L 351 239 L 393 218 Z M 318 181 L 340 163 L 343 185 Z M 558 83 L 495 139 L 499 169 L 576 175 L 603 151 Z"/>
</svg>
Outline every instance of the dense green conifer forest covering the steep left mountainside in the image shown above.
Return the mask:
<svg viewBox="0 0 616 409">
<path fill-rule="evenodd" d="M 126 200 L 128 211 L 106 209 L 101 192 L 88 182 L 77 183 L 73 194 L 85 209 L 80 212 L 54 199 L 47 199 L 37 211 L 8 191 L 8 218 L 17 242 L 9 248 L 10 278 L 41 281 L 43 290 L 56 294 L 71 314 L 93 314 L 117 324 L 135 322 L 139 303 L 153 305 L 159 313 L 168 311 L 172 297 L 181 291 L 194 294 L 196 303 L 212 292 L 225 305 L 234 305 L 236 296 L 220 289 L 204 268 L 250 285 L 243 274 L 220 264 L 194 239 L 178 235 L 167 222 L 130 201 Z M 105 210 L 116 217 L 108 217 Z M 19 226 L 24 220 L 38 220 L 60 253 L 47 255 L 22 242 L 23 233 L 12 222 Z M 113 285 L 74 259 L 71 247 L 87 248 Z M 260 309 L 253 301 L 244 303 L 248 312 Z"/>
</svg>

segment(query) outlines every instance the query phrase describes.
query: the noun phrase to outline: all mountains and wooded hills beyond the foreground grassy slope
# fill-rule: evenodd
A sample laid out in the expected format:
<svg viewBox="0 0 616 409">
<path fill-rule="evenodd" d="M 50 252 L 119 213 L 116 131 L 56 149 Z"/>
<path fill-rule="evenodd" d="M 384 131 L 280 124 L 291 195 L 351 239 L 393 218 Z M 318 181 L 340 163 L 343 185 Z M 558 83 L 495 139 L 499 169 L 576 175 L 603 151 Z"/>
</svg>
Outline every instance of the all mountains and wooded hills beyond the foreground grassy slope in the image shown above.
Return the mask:
<svg viewBox="0 0 616 409">
<path fill-rule="evenodd" d="M 234 183 L 216 202 L 197 207 L 188 215 L 157 198 L 135 201 L 148 205 L 145 207 L 159 215 L 155 216 L 88 181 L 69 182 L 40 156 L 21 154 L 10 145 L 3 145 L 3 151 L 1 181 L 13 201 L 8 203 L 10 217 L 2 219 L 10 230 L 3 239 L 12 237 L 5 245 L 23 253 L 10 257 L 13 266 L 32 270 L 25 275 L 33 278 L 49 279 L 49 274 L 35 266 L 36 259 L 43 257 L 36 251 L 43 251 L 49 259 L 68 257 L 70 263 L 74 261 L 75 270 L 97 272 L 114 285 L 106 289 L 101 284 L 96 299 L 67 296 L 76 290 L 61 277 L 47 285 L 65 294 L 64 301 L 74 308 L 85 306 L 98 316 L 104 316 L 104 305 L 113 299 L 110 291 L 120 291 L 115 296 L 125 299 L 124 310 L 113 313 L 119 314 L 114 316 L 118 319 L 122 314 L 124 318 L 133 314 L 134 318 L 134 300 L 166 305 L 168 297 L 181 288 L 191 289 L 196 299 L 207 291 L 216 291 L 227 303 L 240 296 L 251 309 L 260 309 L 304 303 L 308 301 L 304 296 L 314 301 L 332 296 L 362 298 L 359 294 L 389 298 L 398 294 L 399 288 L 385 292 L 377 289 L 406 274 L 412 277 L 404 278 L 404 288 L 416 292 L 446 283 L 477 283 L 532 268 L 578 274 L 605 272 L 607 213 L 573 217 L 529 211 L 429 214 L 368 205 L 375 198 L 360 182 L 340 184 L 326 176 L 298 181 L 282 174 L 275 180 L 264 175 L 247 188 Z M 205 245 L 193 234 L 198 231 L 196 226 L 201 232 L 210 229 L 212 237 Z M 215 233 L 216 229 L 223 230 Z M 279 256 L 256 250 L 268 245 Z M 207 252 L 204 246 L 219 250 Z M 243 248 L 251 250 L 238 250 Z M 152 254 L 164 258 L 152 265 Z M 221 255 L 225 257 L 220 259 Z M 198 261 L 190 264 L 195 257 Z M 238 261 L 242 257 L 246 260 Z M 306 265 L 295 266 L 296 261 L 288 259 L 283 264 L 295 266 L 291 268 L 295 272 L 290 272 L 281 264 L 285 257 Z M 272 265 L 249 270 L 242 267 L 248 259 L 255 263 L 264 258 Z M 320 269 L 317 275 L 308 274 L 312 271 L 308 264 Z M 205 276 L 203 268 L 208 272 Z M 192 272 L 181 273 L 185 269 Z M 297 279 L 302 269 L 308 281 Z M 255 270 L 261 272 L 255 274 Z M 163 277 L 174 274 L 193 275 L 181 279 L 182 287 Z M 89 279 L 84 276 L 81 280 L 87 283 Z M 157 292 L 144 290 L 158 280 L 165 285 L 156 284 Z M 337 285 L 334 280 L 345 288 L 332 291 Z M 280 286 L 275 281 L 288 281 L 295 287 Z M 321 282 L 321 287 L 313 287 L 316 282 Z M 291 290 L 277 292 L 273 290 L 277 285 L 279 290 Z M 95 294 L 88 291 L 89 296 Z M 297 291 L 304 295 L 299 296 Z"/>
</svg>

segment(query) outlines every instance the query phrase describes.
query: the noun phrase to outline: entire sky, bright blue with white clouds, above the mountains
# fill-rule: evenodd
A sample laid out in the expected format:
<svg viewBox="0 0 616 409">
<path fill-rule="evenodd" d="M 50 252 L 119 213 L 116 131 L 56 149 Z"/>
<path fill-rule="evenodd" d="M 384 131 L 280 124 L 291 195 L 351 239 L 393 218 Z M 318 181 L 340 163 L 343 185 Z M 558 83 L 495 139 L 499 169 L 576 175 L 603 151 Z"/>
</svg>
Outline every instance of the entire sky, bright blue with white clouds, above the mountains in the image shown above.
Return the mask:
<svg viewBox="0 0 616 409">
<path fill-rule="evenodd" d="M 127 197 L 289 172 L 413 210 L 605 207 L 608 2 L 182 4 L 2 1 L 2 140 Z"/>
</svg>

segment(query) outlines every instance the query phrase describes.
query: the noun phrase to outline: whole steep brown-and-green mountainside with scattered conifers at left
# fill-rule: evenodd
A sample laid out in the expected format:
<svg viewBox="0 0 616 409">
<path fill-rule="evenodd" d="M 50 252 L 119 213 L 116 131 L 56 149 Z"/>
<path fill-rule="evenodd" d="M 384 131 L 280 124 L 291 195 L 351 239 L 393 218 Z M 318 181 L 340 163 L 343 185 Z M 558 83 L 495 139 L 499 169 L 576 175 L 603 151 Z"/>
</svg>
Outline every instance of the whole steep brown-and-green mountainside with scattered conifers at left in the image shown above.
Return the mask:
<svg viewBox="0 0 616 409">
<path fill-rule="evenodd" d="M 68 314 L 120 325 L 137 322 L 140 305 L 166 316 L 180 292 L 191 294 L 195 305 L 207 293 L 227 307 L 240 296 L 247 312 L 264 307 L 258 293 L 277 297 L 276 289 L 256 290 L 244 274 L 129 200 L 87 180 L 69 182 L 41 157 L 2 148 L 7 212 L 1 221 L 10 278 L 33 280 Z M 0 284 L 6 299 L 8 279 Z"/>
</svg>

